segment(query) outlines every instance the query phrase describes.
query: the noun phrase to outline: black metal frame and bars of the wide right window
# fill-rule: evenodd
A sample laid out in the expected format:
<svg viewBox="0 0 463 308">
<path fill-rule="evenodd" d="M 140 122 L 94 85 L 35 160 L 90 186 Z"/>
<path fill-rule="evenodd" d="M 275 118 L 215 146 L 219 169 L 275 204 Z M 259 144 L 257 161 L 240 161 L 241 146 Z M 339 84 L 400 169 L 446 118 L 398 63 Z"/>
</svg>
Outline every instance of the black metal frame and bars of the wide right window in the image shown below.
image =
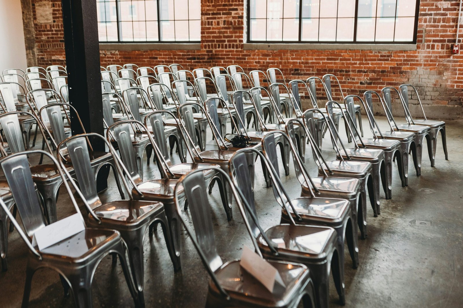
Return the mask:
<svg viewBox="0 0 463 308">
<path fill-rule="evenodd" d="M 251 6 L 251 0 L 246 0 L 245 6 L 246 6 L 246 43 L 248 44 L 390 44 L 390 45 L 404 45 L 404 44 L 416 44 L 417 43 L 417 36 L 418 36 L 418 18 L 419 18 L 419 5 L 420 5 L 420 0 L 416 0 L 416 7 L 415 7 L 415 20 L 414 20 L 414 25 L 413 25 L 413 40 L 412 41 L 357 41 L 357 22 L 358 22 L 358 3 L 359 0 L 355 0 L 355 16 L 354 16 L 354 38 L 352 41 L 302 41 L 301 40 L 301 35 L 302 35 L 302 1 L 299 0 L 299 39 L 297 41 L 289 41 L 289 40 L 281 40 L 281 41 L 262 41 L 262 40 L 251 40 L 250 36 L 250 30 L 251 30 L 251 14 L 250 14 L 250 6 Z M 320 0 L 321 1 L 321 0 Z M 342 0 L 338 0 L 342 1 Z M 375 1 L 375 0 L 373 0 Z M 377 3 L 381 0 L 376 0 Z M 396 18 L 400 18 L 400 16 L 397 16 L 397 1 L 395 2 L 395 16 L 391 17 L 394 18 L 394 29 L 395 29 L 395 24 L 397 23 Z M 284 6 L 284 2 L 283 2 Z M 377 8 L 376 8 L 377 9 Z M 283 7 L 284 10 L 284 7 Z M 378 16 L 372 17 L 372 18 L 378 18 Z M 263 19 L 263 18 L 262 18 Z M 265 20 L 268 20 L 269 18 L 265 18 Z M 307 19 L 307 18 L 305 18 Z M 338 17 L 336 18 L 338 19 Z M 376 27 L 376 22 L 375 22 L 375 27 Z M 266 36 L 267 38 L 267 36 Z M 394 30 L 394 38 L 395 38 L 395 30 Z"/>
</svg>

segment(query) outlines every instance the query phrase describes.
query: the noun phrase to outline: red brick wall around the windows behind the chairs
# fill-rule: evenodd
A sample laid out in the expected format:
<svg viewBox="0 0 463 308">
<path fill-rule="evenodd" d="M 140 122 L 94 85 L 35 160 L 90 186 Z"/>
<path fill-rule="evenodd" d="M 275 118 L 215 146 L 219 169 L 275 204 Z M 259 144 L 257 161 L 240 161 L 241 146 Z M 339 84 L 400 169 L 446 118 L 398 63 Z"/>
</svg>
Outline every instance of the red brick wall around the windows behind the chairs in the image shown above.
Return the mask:
<svg viewBox="0 0 463 308">
<path fill-rule="evenodd" d="M 37 3 L 43 0 L 32 0 Z M 61 1 L 49 0 L 53 23 L 39 24 L 34 12 L 38 64 L 64 64 Z M 333 73 L 350 94 L 407 82 L 417 85 L 424 103 L 463 102 L 463 54 L 452 55 L 459 1 L 422 0 L 414 51 L 244 50 L 244 1 L 201 1 L 200 50 L 101 50 L 101 65 L 180 63 L 187 69 L 238 64 L 245 70 L 280 67 L 287 80 Z M 463 30 L 460 31 L 461 35 Z M 424 40 L 423 40 L 424 39 Z"/>
</svg>

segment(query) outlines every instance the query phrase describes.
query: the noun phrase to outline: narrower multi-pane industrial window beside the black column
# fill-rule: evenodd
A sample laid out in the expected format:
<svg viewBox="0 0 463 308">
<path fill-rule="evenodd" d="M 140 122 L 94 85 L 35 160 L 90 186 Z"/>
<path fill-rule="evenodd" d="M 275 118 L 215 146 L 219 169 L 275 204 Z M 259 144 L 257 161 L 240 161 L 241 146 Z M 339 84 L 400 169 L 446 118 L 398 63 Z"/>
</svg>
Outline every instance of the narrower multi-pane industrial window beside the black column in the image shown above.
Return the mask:
<svg viewBox="0 0 463 308">
<path fill-rule="evenodd" d="M 100 42 L 200 42 L 200 0 L 96 0 Z"/>
</svg>

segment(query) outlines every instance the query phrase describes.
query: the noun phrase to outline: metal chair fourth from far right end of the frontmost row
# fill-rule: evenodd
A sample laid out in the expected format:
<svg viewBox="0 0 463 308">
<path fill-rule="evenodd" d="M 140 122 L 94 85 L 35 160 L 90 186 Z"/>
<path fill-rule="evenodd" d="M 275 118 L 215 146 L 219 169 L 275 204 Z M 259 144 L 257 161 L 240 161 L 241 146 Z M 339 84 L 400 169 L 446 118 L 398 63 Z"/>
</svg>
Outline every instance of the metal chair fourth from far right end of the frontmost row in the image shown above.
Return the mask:
<svg viewBox="0 0 463 308">
<path fill-rule="evenodd" d="M 367 106 L 365 105 L 365 102 L 363 102 L 363 99 L 359 97 L 358 95 L 348 95 L 344 99 L 344 106 L 346 113 L 349 114 L 349 119 L 353 119 L 355 116 L 355 111 L 354 111 L 354 98 L 357 98 L 361 102 L 361 106 L 365 109 L 365 112 L 367 114 L 367 119 L 370 123 L 370 129 L 372 127 L 377 126 L 377 123 L 375 123 L 375 119 L 370 115 L 370 111 Z M 372 129 L 373 132 L 373 129 Z M 357 132 L 357 129 L 355 129 L 355 133 Z M 374 132 L 373 132 L 374 133 Z M 360 136 L 357 137 L 359 138 L 357 141 L 355 140 L 356 138 L 354 137 L 354 142 L 357 143 L 357 146 L 360 147 L 365 147 L 365 148 L 370 148 L 370 149 L 381 149 L 384 151 L 384 160 L 386 162 L 386 181 L 382 179 L 382 186 L 384 189 L 384 193 L 386 195 L 386 199 L 391 199 L 392 198 L 392 162 L 397 158 L 397 167 L 399 168 L 399 175 L 400 178 L 402 178 L 402 172 L 403 172 L 403 164 L 402 164 L 402 155 L 400 153 L 400 141 L 399 140 L 387 140 L 387 139 L 380 139 L 376 137 L 375 133 L 373 135 L 373 139 L 362 139 Z"/>
</svg>

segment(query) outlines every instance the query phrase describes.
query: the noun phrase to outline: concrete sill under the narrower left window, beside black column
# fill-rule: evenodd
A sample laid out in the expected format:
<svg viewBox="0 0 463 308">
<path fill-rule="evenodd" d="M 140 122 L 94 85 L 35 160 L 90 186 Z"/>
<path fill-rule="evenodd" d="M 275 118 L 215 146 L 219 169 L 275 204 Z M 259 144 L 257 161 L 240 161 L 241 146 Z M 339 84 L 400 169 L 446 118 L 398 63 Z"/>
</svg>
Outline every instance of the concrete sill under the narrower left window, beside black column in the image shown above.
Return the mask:
<svg viewBox="0 0 463 308">
<path fill-rule="evenodd" d="M 200 43 L 100 43 L 100 50 L 200 50 Z"/>
</svg>

